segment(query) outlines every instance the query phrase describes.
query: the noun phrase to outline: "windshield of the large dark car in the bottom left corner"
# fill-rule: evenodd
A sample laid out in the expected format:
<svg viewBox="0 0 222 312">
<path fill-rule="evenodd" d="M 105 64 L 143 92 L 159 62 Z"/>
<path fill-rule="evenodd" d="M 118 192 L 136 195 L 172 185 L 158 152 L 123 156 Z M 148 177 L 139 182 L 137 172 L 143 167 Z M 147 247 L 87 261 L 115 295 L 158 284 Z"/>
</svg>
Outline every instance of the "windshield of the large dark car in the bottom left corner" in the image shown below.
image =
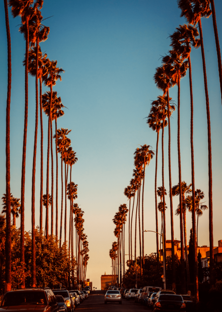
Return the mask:
<svg viewBox="0 0 222 312">
<path fill-rule="evenodd" d="M 44 291 L 7 292 L 2 307 L 13 305 L 47 305 Z"/>
</svg>

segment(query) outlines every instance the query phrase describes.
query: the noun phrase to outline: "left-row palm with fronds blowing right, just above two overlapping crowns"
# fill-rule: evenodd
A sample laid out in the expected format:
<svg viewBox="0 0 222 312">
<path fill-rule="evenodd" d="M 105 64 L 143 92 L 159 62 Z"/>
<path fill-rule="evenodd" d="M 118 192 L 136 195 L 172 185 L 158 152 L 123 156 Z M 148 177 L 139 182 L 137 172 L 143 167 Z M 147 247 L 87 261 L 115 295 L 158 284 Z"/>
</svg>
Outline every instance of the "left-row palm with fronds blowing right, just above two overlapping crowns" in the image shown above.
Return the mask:
<svg viewBox="0 0 222 312">
<path fill-rule="evenodd" d="M 47 171 L 46 171 L 46 239 L 49 239 L 49 149 L 50 149 L 50 128 L 51 128 L 51 110 L 52 110 L 52 97 L 53 97 L 53 86 L 59 79 L 62 80 L 60 73 L 64 72 L 62 68 L 58 68 L 57 61 L 50 61 L 47 64 L 47 75 L 44 76 L 44 85 L 50 87 L 50 105 L 49 105 L 49 122 L 48 122 L 48 149 L 47 149 Z M 53 163 L 52 163 L 53 166 Z M 53 173 L 53 171 L 52 171 Z M 52 200 L 53 201 L 53 200 Z"/>
</svg>

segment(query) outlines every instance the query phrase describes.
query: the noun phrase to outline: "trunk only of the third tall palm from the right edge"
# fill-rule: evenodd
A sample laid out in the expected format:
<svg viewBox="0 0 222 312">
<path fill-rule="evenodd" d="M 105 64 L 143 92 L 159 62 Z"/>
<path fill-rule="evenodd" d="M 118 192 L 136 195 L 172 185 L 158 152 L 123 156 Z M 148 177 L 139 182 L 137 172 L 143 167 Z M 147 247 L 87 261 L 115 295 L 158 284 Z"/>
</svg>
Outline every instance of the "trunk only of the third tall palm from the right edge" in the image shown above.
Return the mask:
<svg viewBox="0 0 222 312">
<path fill-rule="evenodd" d="M 191 70 L 191 60 L 190 56 L 188 57 L 189 63 L 189 81 L 190 81 L 190 108 L 191 108 L 191 118 L 190 118 L 190 145 L 191 145 L 191 175 L 192 175 L 192 229 L 193 237 L 195 241 L 196 237 L 196 215 L 195 215 L 195 179 L 194 179 L 194 152 L 193 152 L 193 88 L 192 88 L 192 70 Z M 195 302 L 199 301 L 199 290 L 198 290 L 198 268 L 197 268 L 197 246 L 194 246 L 194 293 L 195 293 Z"/>
</svg>

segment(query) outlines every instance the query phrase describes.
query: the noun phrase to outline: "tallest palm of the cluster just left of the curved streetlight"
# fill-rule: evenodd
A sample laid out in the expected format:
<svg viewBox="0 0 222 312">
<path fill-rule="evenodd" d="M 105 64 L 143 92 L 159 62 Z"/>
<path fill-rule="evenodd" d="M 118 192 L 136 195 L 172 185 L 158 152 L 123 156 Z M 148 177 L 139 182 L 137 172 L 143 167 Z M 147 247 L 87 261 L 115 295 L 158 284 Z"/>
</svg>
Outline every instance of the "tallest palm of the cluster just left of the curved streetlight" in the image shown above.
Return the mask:
<svg viewBox="0 0 222 312">
<path fill-rule="evenodd" d="M 138 151 L 138 157 L 143 164 L 143 189 L 142 189 L 142 257 L 143 257 L 143 269 L 144 269 L 144 221 L 143 221 L 143 194 L 144 194 L 144 180 L 145 180 L 145 168 L 149 165 L 150 160 L 154 156 L 154 152 L 150 149 L 150 145 L 144 144 L 143 146 L 140 145 L 141 148 Z"/>
</svg>

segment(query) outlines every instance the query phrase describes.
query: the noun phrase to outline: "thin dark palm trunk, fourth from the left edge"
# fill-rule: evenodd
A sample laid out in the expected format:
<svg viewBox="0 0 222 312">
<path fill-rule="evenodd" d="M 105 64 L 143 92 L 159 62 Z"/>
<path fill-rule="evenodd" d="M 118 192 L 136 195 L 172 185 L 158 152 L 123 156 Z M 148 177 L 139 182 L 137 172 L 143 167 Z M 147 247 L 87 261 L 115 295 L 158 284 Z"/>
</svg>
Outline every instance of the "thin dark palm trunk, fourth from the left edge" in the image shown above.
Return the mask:
<svg viewBox="0 0 222 312">
<path fill-rule="evenodd" d="M 39 232 L 42 233 L 42 195 L 43 195 L 43 123 L 42 123 L 42 77 L 39 77 L 39 105 L 41 126 L 41 168 L 40 168 L 40 217 Z"/>
</svg>

